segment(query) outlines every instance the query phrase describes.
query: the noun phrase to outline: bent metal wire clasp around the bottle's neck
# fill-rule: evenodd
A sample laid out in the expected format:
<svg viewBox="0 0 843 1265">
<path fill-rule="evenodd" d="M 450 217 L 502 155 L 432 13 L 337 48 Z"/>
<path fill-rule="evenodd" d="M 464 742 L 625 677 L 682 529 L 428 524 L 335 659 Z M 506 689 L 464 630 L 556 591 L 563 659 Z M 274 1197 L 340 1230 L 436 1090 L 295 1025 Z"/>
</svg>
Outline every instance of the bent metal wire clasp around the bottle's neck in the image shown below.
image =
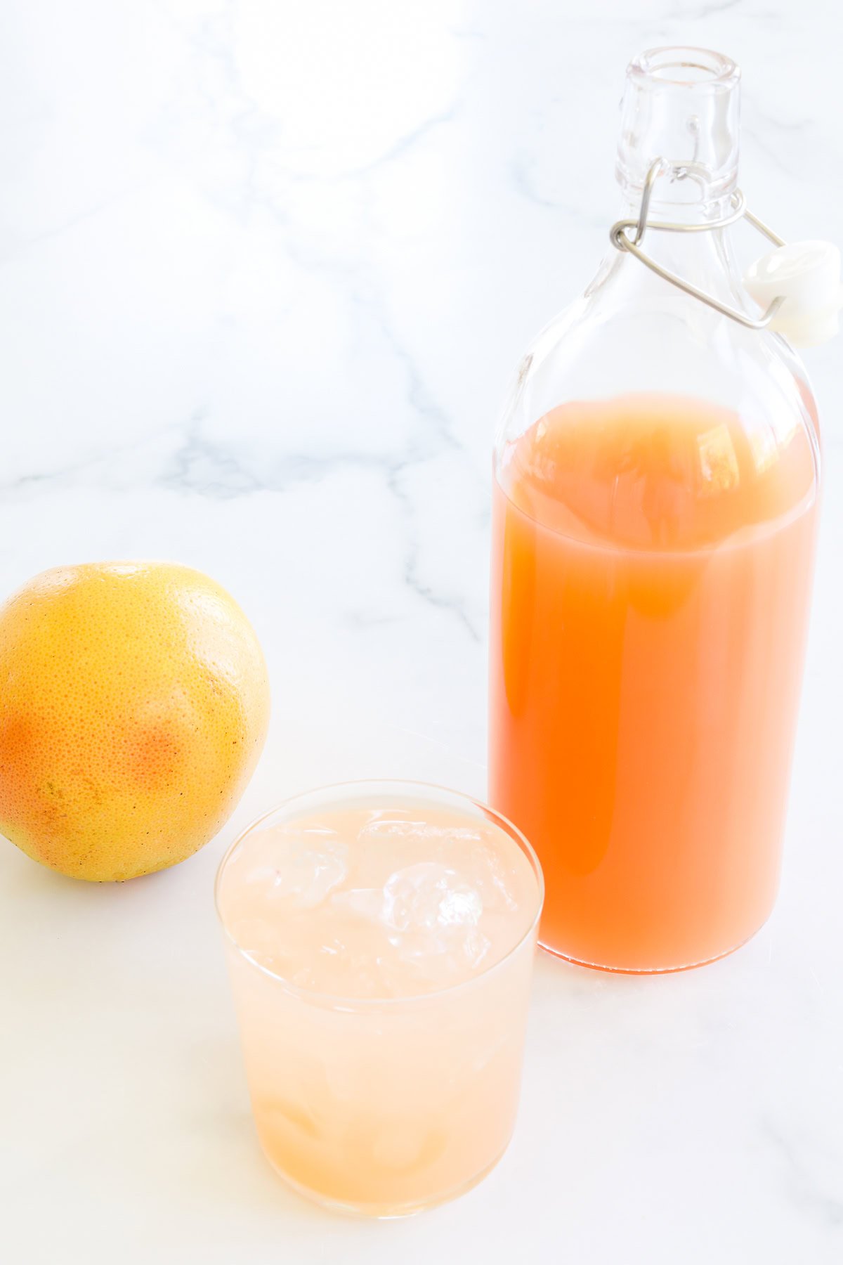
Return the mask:
<svg viewBox="0 0 843 1265">
<path fill-rule="evenodd" d="M 727 228 L 729 224 L 734 224 L 736 220 L 742 218 L 748 220 L 749 224 L 758 230 L 758 233 L 763 233 L 766 238 L 770 238 L 775 245 L 785 245 L 784 239 L 780 238 L 777 233 L 773 233 L 772 229 L 767 228 L 767 225 L 757 218 L 757 215 L 752 215 L 752 213 L 747 210 L 746 199 L 739 188 L 736 188 L 732 194 L 732 209 L 729 214 L 722 216 L 719 220 L 707 220 L 704 224 L 675 224 L 665 220 L 647 220 L 652 186 L 658 176 L 664 175 L 669 167 L 670 164 L 666 163 L 664 158 L 656 158 L 656 161 L 651 163 L 645 180 L 643 194 L 641 195 L 641 211 L 638 213 L 638 219 L 618 220 L 617 224 L 613 224 L 609 231 L 612 245 L 617 250 L 627 250 L 629 254 L 634 256 L 636 259 L 643 263 L 646 268 L 655 272 L 657 277 L 662 277 L 664 281 L 669 281 L 671 286 L 676 286 L 693 299 L 699 299 L 701 304 L 707 304 L 709 307 L 713 307 L 714 311 L 722 312 L 723 316 L 736 320 L 739 325 L 744 325 L 747 329 L 766 329 L 784 304 L 784 295 L 773 299 L 767 310 L 761 316 L 753 319 L 752 316 L 747 316 L 744 312 L 738 311 L 737 307 L 729 307 L 728 304 L 722 304 L 719 299 L 707 295 L 704 290 L 698 290 L 698 287 L 693 286 L 690 281 L 677 277 L 676 273 L 670 272 L 669 268 L 662 268 L 660 263 L 656 263 L 655 259 L 651 259 L 650 256 L 645 254 L 641 249 L 641 242 L 643 240 L 643 235 L 647 229 L 656 229 L 661 233 L 703 233 L 709 229 Z M 684 180 L 686 176 L 690 176 L 691 172 L 682 171 L 682 168 L 680 168 L 675 175 L 677 180 Z M 629 237 L 629 229 L 634 229 L 634 235 L 632 238 Z"/>
</svg>

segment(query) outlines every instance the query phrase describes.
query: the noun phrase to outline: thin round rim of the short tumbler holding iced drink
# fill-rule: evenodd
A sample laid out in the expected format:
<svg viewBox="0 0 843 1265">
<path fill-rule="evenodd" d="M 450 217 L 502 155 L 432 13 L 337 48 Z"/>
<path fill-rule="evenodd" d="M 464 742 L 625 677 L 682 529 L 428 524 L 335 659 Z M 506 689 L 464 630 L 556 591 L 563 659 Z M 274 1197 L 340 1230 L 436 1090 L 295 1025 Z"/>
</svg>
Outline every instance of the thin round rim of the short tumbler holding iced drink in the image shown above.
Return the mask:
<svg viewBox="0 0 843 1265">
<path fill-rule="evenodd" d="M 440 797 L 461 801 L 465 805 L 470 805 L 473 808 L 480 810 L 480 812 L 483 812 L 497 826 L 499 826 L 504 831 L 504 834 L 509 835 L 513 839 L 513 842 L 518 848 L 521 848 L 521 850 L 525 853 L 532 868 L 533 875 L 536 878 L 536 889 L 537 889 L 536 912 L 533 913 L 533 917 L 531 918 L 528 927 L 521 936 L 518 936 L 516 942 L 511 945 L 509 949 L 507 949 L 507 951 L 500 958 L 497 958 L 483 970 L 479 970 L 476 975 L 470 975 L 468 979 L 461 979 L 455 984 L 445 984 L 442 988 L 435 988 L 425 993 L 408 993 L 401 997 L 349 997 L 348 993 L 325 993 L 316 988 L 302 988 L 300 984 L 294 984 L 291 979 L 286 979 L 283 975 L 279 975 L 269 966 L 262 965 L 262 963 L 257 961 L 246 953 L 243 945 L 238 944 L 235 936 L 226 926 L 225 918 L 222 917 L 222 911 L 220 908 L 220 882 L 222 878 L 222 872 L 225 870 L 229 858 L 234 853 L 235 848 L 238 848 L 244 841 L 244 839 L 246 839 L 253 832 L 253 830 L 257 830 L 257 827 L 260 826 L 263 822 L 265 822 L 268 817 L 272 817 L 281 810 L 294 807 L 294 805 L 301 799 L 310 799 L 313 796 L 329 796 L 337 792 L 339 793 L 360 792 L 365 791 L 367 788 L 370 788 L 372 791 L 374 791 L 375 788 L 383 788 L 387 793 L 391 789 L 397 791 L 398 788 L 404 788 L 411 794 L 413 791 L 434 792 L 436 796 Z M 331 782 L 325 786 L 311 787 L 308 791 L 300 791 L 293 796 L 288 796 L 286 799 L 281 799 L 278 803 L 273 805 L 270 808 L 267 808 L 265 812 L 262 812 L 253 821 L 250 821 L 248 826 L 244 826 L 244 829 L 239 831 L 236 837 L 229 844 L 229 846 L 222 853 L 214 879 L 214 908 L 216 911 L 220 927 L 222 929 L 222 935 L 225 936 L 226 941 L 231 945 L 231 947 L 236 950 L 236 953 L 240 955 L 240 958 L 243 958 L 244 961 L 246 961 L 250 966 L 254 966 L 255 970 L 259 970 L 268 979 L 272 979 L 276 984 L 279 984 L 284 992 L 289 993 L 293 997 L 297 997 L 306 1004 L 320 1006 L 327 1009 L 358 1011 L 368 1008 L 377 1009 L 379 1007 L 389 1007 L 389 1006 L 394 1007 L 417 1006 L 417 1004 L 423 1004 L 425 1002 L 434 1002 L 436 999 L 441 999 L 442 997 L 460 992 L 460 989 L 471 988 L 473 985 L 479 984 L 480 980 L 487 979 L 495 970 L 502 968 L 504 963 L 509 961 L 511 958 L 514 958 L 518 950 L 536 932 L 543 904 L 545 904 L 545 875 L 541 868 L 541 861 L 538 860 L 536 850 L 527 839 L 527 836 L 521 830 L 518 830 L 518 827 L 512 821 L 509 821 L 508 817 L 504 817 L 504 815 L 502 812 L 498 812 L 497 808 L 492 808 L 490 805 L 484 803 L 482 799 L 478 799 L 475 796 L 468 794 L 464 791 L 454 791 L 450 787 L 440 786 L 436 782 L 420 782 L 404 778 L 379 778 L 379 779 L 360 778 L 351 782 Z"/>
</svg>

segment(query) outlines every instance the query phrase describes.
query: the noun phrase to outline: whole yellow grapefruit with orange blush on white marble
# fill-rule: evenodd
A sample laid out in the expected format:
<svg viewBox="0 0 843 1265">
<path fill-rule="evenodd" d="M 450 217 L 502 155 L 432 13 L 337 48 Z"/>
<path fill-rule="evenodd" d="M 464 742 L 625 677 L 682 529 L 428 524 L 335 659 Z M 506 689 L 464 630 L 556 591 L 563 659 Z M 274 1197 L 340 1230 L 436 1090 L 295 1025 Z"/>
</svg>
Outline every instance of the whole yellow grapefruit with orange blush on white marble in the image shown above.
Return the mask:
<svg viewBox="0 0 843 1265">
<path fill-rule="evenodd" d="M 0 832 L 62 874 L 135 878 L 197 851 L 268 720 L 258 639 L 201 572 L 58 567 L 0 607 Z"/>
</svg>

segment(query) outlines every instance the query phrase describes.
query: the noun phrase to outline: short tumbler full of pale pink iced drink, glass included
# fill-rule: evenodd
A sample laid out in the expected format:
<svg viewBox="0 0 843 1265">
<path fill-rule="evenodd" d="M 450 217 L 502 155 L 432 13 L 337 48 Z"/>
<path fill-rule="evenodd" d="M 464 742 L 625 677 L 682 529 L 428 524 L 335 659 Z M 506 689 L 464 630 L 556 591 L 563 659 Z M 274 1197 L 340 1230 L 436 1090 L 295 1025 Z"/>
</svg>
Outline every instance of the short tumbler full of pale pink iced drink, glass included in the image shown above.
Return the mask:
<svg viewBox="0 0 843 1265">
<path fill-rule="evenodd" d="M 522 835 L 415 783 L 300 796 L 216 902 L 260 1144 L 324 1203 L 402 1216 L 488 1173 L 514 1123 L 543 887 Z"/>
</svg>

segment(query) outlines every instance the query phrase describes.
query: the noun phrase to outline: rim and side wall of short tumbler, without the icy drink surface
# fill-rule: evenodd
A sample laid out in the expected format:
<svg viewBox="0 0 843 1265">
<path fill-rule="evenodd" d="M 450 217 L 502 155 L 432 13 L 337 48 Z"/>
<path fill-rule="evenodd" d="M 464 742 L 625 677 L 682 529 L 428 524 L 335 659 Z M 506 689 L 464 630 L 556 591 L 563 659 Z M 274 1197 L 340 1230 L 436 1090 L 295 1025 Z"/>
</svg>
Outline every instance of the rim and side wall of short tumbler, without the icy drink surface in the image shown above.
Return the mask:
<svg viewBox="0 0 843 1265">
<path fill-rule="evenodd" d="M 282 978 L 239 942 L 222 891 L 233 858 L 269 827 L 360 808 L 409 808 L 463 831 L 497 827 L 512 856 L 526 858 L 535 877 L 530 908 L 513 920 L 512 942 L 488 968 L 423 993 L 329 996 Z M 507 1147 L 518 1103 L 543 898 L 525 836 L 493 810 L 440 787 L 326 787 L 253 822 L 225 854 L 215 898 L 258 1136 L 277 1173 L 324 1204 L 375 1217 L 417 1212 L 482 1180 Z"/>
</svg>

